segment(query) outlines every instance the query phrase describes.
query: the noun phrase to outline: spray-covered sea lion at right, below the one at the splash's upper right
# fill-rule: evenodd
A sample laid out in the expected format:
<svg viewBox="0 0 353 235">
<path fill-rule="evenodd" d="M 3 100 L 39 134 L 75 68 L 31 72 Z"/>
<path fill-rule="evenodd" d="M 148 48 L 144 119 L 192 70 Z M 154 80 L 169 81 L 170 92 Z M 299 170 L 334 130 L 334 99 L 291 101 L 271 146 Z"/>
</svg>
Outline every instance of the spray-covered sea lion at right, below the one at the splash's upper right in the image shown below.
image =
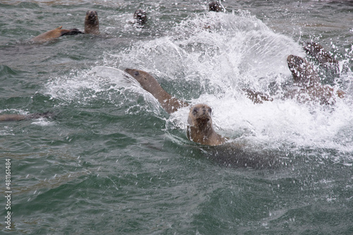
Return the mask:
<svg viewBox="0 0 353 235">
<path fill-rule="evenodd" d="M 299 102 L 314 101 L 320 104 L 335 104 L 335 93 L 330 85 L 322 85 L 318 73 L 305 59 L 289 55 L 287 57 L 289 70 L 292 72 L 294 85 L 299 89 L 292 90 L 286 97 L 297 97 Z M 338 90 L 337 96 L 342 98 L 345 92 Z"/>
</svg>

